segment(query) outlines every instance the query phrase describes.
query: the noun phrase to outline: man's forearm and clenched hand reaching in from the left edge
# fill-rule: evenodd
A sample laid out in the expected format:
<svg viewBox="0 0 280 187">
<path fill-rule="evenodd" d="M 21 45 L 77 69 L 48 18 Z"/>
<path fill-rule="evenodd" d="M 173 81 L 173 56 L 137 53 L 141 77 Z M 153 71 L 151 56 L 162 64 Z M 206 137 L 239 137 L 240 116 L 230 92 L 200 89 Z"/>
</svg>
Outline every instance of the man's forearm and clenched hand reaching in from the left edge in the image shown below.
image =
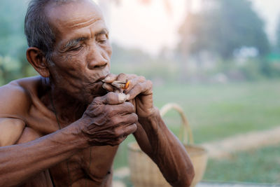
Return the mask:
<svg viewBox="0 0 280 187">
<path fill-rule="evenodd" d="M 24 144 L 0 147 L 0 186 L 17 186 L 89 146 L 118 145 L 136 130 L 134 106 L 109 93 L 96 97 L 80 120 Z M 3 111 L 3 109 L 2 109 Z M 6 121 L 2 125 L 11 124 Z"/>
</svg>

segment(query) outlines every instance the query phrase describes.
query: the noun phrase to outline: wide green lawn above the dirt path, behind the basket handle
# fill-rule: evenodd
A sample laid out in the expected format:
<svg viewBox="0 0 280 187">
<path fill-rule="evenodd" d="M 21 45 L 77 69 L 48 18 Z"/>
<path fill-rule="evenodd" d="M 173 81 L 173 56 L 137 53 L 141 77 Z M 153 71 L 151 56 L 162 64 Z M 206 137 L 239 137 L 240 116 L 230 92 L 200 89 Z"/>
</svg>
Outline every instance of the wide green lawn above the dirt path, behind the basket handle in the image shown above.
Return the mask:
<svg viewBox="0 0 280 187">
<path fill-rule="evenodd" d="M 180 104 L 196 143 L 280 125 L 280 81 L 228 85 L 171 85 L 155 88 L 155 105 Z M 170 126 L 180 124 L 169 113 Z"/>
</svg>

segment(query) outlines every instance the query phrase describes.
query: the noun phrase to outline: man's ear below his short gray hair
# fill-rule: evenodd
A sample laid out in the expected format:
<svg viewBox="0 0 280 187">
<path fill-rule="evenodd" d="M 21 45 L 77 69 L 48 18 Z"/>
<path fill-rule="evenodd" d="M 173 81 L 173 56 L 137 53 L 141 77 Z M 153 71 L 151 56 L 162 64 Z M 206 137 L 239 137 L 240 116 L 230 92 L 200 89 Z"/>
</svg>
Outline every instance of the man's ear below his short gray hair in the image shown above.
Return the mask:
<svg viewBox="0 0 280 187">
<path fill-rule="evenodd" d="M 45 56 L 38 48 L 27 49 L 27 60 L 34 67 L 34 69 L 43 77 L 49 77 L 50 71 L 48 69 L 48 63 Z"/>
</svg>

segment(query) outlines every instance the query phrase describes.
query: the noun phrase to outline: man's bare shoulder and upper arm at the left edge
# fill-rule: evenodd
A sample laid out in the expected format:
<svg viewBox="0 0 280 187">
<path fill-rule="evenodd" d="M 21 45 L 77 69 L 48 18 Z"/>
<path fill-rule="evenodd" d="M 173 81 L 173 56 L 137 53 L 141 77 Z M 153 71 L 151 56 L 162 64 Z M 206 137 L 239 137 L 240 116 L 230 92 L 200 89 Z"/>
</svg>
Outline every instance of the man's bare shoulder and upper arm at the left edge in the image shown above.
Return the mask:
<svg viewBox="0 0 280 187">
<path fill-rule="evenodd" d="M 15 144 L 25 129 L 25 115 L 39 77 L 22 78 L 0 87 L 0 146 Z"/>
</svg>

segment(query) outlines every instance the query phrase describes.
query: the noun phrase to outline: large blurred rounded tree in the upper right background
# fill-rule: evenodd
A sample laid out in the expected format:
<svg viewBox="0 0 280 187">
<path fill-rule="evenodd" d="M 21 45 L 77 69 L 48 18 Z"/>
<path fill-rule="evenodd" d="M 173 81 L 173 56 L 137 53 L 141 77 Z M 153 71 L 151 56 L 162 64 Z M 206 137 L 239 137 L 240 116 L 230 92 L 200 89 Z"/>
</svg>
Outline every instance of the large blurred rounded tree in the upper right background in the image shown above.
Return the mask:
<svg viewBox="0 0 280 187">
<path fill-rule="evenodd" d="M 207 0 L 207 5 L 211 6 L 202 5 L 199 13 L 188 13 L 179 29 L 178 48 L 182 54 L 196 55 L 207 50 L 228 59 L 242 46 L 255 47 L 260 55 L 269 52 L 264 22 L 250 1 Z"/>
</svg>

